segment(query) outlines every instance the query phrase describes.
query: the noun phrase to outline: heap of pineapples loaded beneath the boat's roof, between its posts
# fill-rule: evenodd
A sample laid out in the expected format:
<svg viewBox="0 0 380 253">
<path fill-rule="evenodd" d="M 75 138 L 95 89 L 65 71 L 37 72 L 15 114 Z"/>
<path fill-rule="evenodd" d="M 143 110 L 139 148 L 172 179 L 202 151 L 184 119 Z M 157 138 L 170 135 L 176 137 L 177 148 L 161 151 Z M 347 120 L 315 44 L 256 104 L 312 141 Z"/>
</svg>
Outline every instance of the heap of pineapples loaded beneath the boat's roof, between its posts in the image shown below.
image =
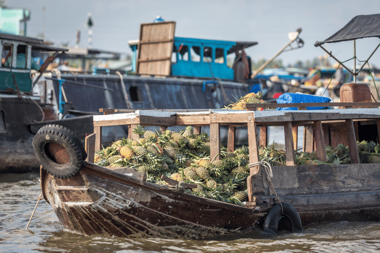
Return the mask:
<svg viewBox="0 0 380 253">
<path fill-rule="evenodd" d="M 210 157 L 210 139 L 207 133 L 193 134 L 192 127 L 175 132 L 145 130 L 138 126 L 134 131 L 137 140 L 121 139 L 97 151 L 95 164 L 104 167 L 129 167 L 145 172 L 147 181 L 165 185 L 162 174 L 185 183 L 195 183 L 197 188 L 186 190 L 197 196 L 227 203 L 247 201 L 249 175 L 248 147 L 226 152 L 221 145 L 221 160 Z M 380 163 L 380 147 L 373 141 L 358 142 L 361 163 Z M 285 166 L 285 151 L 271 147 L 259 148 L 260 160 L 271 166 Z M 327 163 L 318 161 L 316 152 L 295 152 L 296 165 L 347 164 L 345 145 L 326 147 Z"/>
</svg>

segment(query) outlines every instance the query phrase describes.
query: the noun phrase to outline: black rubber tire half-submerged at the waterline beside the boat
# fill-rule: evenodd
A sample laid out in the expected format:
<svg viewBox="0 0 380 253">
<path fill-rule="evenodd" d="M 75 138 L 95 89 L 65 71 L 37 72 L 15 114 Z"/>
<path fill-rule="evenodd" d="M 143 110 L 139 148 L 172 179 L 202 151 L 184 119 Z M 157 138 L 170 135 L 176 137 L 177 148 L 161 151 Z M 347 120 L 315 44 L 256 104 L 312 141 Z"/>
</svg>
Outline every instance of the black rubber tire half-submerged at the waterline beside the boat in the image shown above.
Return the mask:
<svg viewBox="0 0 380 253">
<path fill-rule="evenodd" d="M 285 217 L 290 222 L 291 228 L 289 231 L 302 230 L 301 218 L 299 217 L 299 214 L 295 208 L 285 202 L 281 202 L 281 204 L 283 205 L 284 209 L 283 213 L 280 204 L 274 205 L 264 219 L 263 228 L 272 230 L 273 232 L 277 233 L 279 221 Z"/>
</svg>

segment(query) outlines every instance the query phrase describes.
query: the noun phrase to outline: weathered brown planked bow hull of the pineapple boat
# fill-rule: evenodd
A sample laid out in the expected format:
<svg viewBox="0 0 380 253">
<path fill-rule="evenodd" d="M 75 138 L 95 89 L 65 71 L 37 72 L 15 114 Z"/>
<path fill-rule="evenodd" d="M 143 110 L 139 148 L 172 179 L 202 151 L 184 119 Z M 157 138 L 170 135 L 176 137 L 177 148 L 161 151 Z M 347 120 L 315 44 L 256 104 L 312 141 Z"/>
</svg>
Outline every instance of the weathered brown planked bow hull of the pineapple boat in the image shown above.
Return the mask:
<svg viewBox="0 0 380 253">
<path fill-rule="evenodd" d="M 252 228 L 264 215 L 90 163 L 67 179 L 41 169 L 41 179 L 59 220 L 84 235 L 199 239 Z"/>
</svg>

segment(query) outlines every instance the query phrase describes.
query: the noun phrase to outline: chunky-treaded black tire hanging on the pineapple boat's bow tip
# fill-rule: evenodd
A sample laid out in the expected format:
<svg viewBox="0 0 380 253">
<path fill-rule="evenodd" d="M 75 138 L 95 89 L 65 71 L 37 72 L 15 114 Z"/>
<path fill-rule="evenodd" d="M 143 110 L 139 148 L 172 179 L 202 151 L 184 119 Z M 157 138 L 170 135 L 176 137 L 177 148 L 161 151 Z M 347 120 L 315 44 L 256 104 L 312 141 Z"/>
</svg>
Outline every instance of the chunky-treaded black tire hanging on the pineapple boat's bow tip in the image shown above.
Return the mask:
<svg viewBox="0 0 380 253">
<path fill-rule="evenodd" d="M 67 128 L 61 129 L 60 126 L 43 128 L 37 132 L 32 141 L 40 163 L 55 177 L 74 176 L 83 166 L 83 154 L 80 145 L 75 141 L 75 136 L 68 133 Z"/>
</svg>

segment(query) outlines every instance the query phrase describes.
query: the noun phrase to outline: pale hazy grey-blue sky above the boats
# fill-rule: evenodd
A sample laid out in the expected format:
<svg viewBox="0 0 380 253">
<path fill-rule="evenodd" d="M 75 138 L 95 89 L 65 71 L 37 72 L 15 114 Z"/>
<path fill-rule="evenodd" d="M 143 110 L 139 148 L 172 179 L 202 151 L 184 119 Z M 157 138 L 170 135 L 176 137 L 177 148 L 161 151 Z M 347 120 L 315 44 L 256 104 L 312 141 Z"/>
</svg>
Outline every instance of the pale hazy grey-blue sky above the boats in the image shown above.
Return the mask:
<svg viewBox="0 0 380 253">
<path fill-rule="evenodd" d="M 304 47 L 278 57 L 286 65 L 324 55 L 314 46 L 316 41 L 327 39 L 357 15 L 380 13 L 379 0 L 5 0 L 5 4 L 30 9 L 27 35 L 45 31 L 45 38 L 56 46 L 62 42 L 74 46 L 80 30 L 80 46 L 87 47 L 85 22 L 91 12 L 93 48 L 127 53 L 131 53 L 128 41 L 139 37 L 140 24 L 152 22 L 157 15 L 176 21 L 177 37 L 258 42 L 246 49 L 254 61 L 272 57 L 288 42 L 288 32 L 302 28 Z M 378 38 L 358 40 L 358 59 L 367 59 L 379 42 Z M 340 61 L 353 55 L 352 42 L 326 46 Z M 335 61 L 330 58 L 330 62 Z M 370 63 L 380 67 L 380 51 Z"/>
</svg>

